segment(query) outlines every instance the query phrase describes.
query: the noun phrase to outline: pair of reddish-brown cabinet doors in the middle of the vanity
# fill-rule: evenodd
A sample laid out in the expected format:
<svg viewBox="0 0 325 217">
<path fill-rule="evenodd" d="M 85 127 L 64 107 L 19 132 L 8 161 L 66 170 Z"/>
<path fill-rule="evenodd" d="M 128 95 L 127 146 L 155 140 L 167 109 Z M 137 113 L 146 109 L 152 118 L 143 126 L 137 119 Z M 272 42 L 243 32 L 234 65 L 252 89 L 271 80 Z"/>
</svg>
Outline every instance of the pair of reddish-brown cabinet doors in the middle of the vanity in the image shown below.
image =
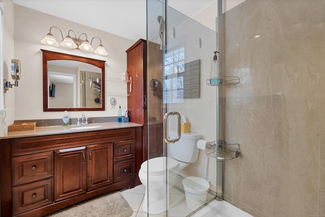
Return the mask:
<svg viewBox="0 0 325 217">
<path fill-rule="evenodd" d="M 54 201 L 112 184 L 113 143 L 57 150 L 54 167 Z"/>
</svg>

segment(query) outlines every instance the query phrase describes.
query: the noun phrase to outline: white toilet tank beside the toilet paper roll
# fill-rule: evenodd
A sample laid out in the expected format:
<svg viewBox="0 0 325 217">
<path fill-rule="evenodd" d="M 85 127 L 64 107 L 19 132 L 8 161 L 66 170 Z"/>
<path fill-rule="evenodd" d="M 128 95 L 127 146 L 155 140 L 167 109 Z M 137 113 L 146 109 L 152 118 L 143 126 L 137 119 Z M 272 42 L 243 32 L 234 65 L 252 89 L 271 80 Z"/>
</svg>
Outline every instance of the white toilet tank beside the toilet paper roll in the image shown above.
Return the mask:
<svg viewBox="0 0 325 217">
<path fill-rule="evenodd" d="M 177 133 L 169 133 L 170 138 L 176 138 Z M 199 148 L 197 142 L 201 138 L 197 133 L 181 133 L 178 142 L 169 143 L 169 154 L 171 158 L 185 163 L 193 163 L 198 160 Z"/>
</svg>

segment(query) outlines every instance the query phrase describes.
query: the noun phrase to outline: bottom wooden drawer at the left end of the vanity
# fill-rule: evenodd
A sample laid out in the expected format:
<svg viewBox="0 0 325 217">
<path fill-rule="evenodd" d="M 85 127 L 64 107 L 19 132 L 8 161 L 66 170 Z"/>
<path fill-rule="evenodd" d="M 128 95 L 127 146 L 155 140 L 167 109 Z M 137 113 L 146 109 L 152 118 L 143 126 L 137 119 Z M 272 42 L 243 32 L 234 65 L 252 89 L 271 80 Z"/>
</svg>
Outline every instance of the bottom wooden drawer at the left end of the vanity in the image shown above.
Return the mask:
<svg viewBox="0 0 325 217">
<path fill-rule="evenodd" d="M 53 203 L 53 178 L 13 187 L 13 214 Z"/>
</svg>

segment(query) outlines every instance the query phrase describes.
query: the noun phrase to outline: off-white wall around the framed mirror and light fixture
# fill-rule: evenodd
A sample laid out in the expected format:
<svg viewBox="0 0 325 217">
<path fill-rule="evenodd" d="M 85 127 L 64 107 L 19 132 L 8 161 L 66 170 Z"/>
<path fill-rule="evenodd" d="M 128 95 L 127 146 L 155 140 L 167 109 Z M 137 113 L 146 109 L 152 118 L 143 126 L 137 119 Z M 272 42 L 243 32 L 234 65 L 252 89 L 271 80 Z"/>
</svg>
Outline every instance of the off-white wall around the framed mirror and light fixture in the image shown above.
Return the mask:
<svg viewBox="0 0 325 217">
<path fill-rule="evenodd" d="M 62 112 L 43 112 L 42 51 L 40 49 L 106 60 L 105 111 L 84 112 L 86 116 L 116 116 L 117 107 L 111 109 L 109 103 L 111 97 L 114 97 L 116 103 L 121 104 L 123 109 L 126 108 L 126 83 L 122 81 L 122 75 L 126 71 L 125 50 L 134 44 L 133 40 L 105 33 L 98 29 L 50 16 L 22 6 L 15 5 L 14 9 L 14 57 L 20 59 L 22 69 L 19 87 L 14 87 L 15 106 L 14 108 L 10 108 L 15 111 L 14 119 L 52 119 L 61 118 L 63 115 Z M 110 25 L 110 23 L 111 21 L 103 21 L 103 25 Z M 88 40 L 94 36 L 101 38 L 108 55 L 99 56 L 92 53 L 82 53 L 79 50 L 68 50 L 62 47 L 49 47 L 41 44 L 41 39 L 49 33 L 51 26 L 59 27 L 63 32 L 63 37 L 68 35 L 69 29 L 72 29 L 77 37 L 81 33 L 85 33 L 88 36 Z M 51 33 L 57 41 L 61 40 L 58 29 L 52 28 Z M 97 42 L 94 39 L 93 45 L 93 47 L 99 45 L 99 41 Z M 71 117 L 79 117 L 83 112 L 69 113 Z"/>
</svg>

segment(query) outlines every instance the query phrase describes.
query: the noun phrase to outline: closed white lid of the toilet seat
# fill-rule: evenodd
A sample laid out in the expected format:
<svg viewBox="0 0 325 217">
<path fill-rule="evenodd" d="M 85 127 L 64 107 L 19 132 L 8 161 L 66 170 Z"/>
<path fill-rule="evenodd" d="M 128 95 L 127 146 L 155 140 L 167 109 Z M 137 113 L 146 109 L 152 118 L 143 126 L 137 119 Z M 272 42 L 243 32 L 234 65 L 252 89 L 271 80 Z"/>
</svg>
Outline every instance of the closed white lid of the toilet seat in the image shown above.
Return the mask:
<svg viewBox="0 0 325 217">
<path fill-rule="evenodd" d="M 168 165 L 168 170 L 173 171 L 178 168 L 179 162 L 173 158 L 158 157 L 149 159 L 149 174 L 158 174 L 164 172 L 164 165 Z M 148 172 L 148 161 L 141 164 L 141 170 L 143 172 Z"/>
</svg>

